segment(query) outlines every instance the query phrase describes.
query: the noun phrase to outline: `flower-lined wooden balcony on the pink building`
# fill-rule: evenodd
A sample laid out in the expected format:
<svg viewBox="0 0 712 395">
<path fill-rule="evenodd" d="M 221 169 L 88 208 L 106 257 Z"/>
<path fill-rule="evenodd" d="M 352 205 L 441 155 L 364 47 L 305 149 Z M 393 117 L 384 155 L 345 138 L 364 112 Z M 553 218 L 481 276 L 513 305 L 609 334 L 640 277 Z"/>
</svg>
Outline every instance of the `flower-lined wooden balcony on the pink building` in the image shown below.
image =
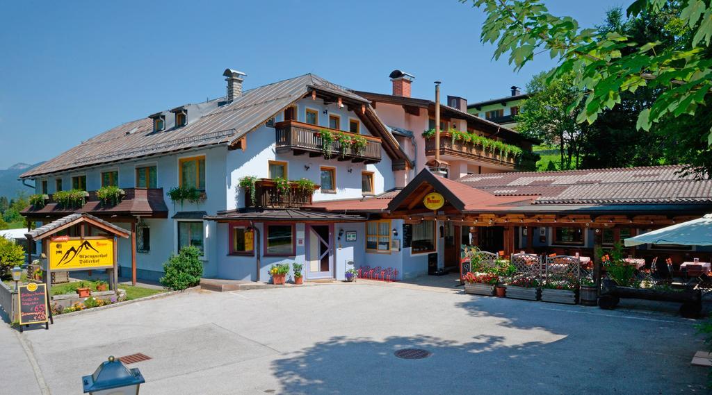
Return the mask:
<svg viewBox="0 0 712 395">
<path fill-rule="evenodd" d="M 435 137 L 425 139 L 425 155 L 435 155 Z M 479 163 L 488 163 L 491 165 L 501 166 L 509 170 L 514 170 L 517 165 L 516 158 L 513 154 L 500 154 L 484 149 L 478 144 L 473 144 L 468 141 L 455 140 L 452 135 L 446 131 L 440 133 L 440 156 L 446 156 L 464 161 L 477 161 Z M 448 158 L 444 158 L 445 161 Z"/>
</svg>

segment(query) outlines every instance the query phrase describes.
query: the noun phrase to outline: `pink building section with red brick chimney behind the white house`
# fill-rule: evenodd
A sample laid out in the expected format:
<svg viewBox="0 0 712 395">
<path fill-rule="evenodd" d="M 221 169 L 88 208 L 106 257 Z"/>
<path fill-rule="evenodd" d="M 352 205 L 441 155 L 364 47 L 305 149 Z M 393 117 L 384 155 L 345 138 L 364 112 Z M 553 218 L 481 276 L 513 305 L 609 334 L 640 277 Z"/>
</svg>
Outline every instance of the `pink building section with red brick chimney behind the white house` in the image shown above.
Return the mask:
<svg viewBox="0 0 712 395">
<path fill-rule="evenodd" d="M 392 129 L 403 150 L 415 163 L 412 176 L 434 159 L 435 155 L 435 102 L 411 97 L 414 76 L 394 70 L 389 75 L 391 94 L 355 91 L 369 99 L 378 116 Z M 456 179 L 468 174 L 501 173 L 515 170 L 533 170 L 535 161 L 531 156 L 532 144 L 537 143 L 512 129 L 468 114 L 467 100 L 448 96 L 447 105 L 440 106 L 440 158 L 446 163 L 447 178 Z M 459 139 L 477 136 L 523 151 L 514 156 L 498 149 L 488 150 L 478 144 Z M 409 180 L 397 178 L 396 185 L 403 187 Z"/>
</svg>

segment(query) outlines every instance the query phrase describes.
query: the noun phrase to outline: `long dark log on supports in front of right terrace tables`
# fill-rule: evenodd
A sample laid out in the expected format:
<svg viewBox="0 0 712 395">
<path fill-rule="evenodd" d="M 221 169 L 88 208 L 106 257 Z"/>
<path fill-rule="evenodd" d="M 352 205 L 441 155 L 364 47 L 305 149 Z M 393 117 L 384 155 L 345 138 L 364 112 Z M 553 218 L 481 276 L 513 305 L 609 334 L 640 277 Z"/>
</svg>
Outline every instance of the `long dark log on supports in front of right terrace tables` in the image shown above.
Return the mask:
<svg viewBox="0 0 712 395">
<path fill-rule="evenodd" d="M 602 282 L 598 306 L 604 310 L 613 310 L 621 298 L 682 303 L 679 311 L 684 318 L 699 318 L 702 310 L 702 293 L 698 289 L 686 288 L 684 291 L 662 291 L 658 289 L 629 288 L 618 286 L 615 281 L 605 278 Z"/>
</svg>

